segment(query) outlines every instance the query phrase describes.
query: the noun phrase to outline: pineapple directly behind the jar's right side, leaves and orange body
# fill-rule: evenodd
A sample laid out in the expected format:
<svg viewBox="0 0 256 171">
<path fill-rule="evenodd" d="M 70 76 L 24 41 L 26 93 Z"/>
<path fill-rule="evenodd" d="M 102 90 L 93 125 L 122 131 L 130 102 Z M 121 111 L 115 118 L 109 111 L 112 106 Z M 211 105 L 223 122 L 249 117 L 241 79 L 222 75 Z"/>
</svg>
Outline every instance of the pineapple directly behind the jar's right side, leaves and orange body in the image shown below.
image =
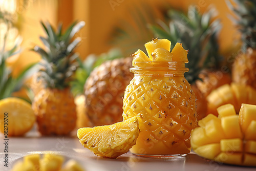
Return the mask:
<svg viewBox="0 0 256 171">
<path fill-rule="evenodd" d="M 217 42 L 220 23 L 217 19 L 212 20 L 214 11 L 200 14 L 194 6 L 188 8 L 187 15 L 172 9 L 167 16 L 170 19 L 168 26 L 162 22 L 160 26 L 151 26 L 151 29 L 157 37 L 182 42 L 184 49 L 189 50 L 186 66 L 189 71 L 185 73 L 185 78 L 197 96 L 198 119 L 201 119 L 207 112 L 206 96 L 218 86 L 230 82 L 230 79 L 222 79 L 229 78 L 228 74 L 221 73 L 219 77 L 215 74 L 220 72 L 218 65 L 221 57 Z"/>
</svg>

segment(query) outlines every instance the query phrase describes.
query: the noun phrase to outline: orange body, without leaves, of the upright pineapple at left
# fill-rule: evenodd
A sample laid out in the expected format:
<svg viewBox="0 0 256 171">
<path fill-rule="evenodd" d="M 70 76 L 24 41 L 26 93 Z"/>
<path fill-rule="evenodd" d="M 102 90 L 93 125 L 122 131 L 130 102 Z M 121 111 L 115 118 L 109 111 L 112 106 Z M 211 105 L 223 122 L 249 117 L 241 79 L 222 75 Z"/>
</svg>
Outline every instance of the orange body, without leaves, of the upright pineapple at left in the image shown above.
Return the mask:
<svg viewBox="0 0 256 171">
<path fill-rule="evenodd" d="M 42 89 L 34 98 L 38 131 L 42 135 L 68 135 L 76 125 L 76 105 L 69 88 Z"/>
</svg>

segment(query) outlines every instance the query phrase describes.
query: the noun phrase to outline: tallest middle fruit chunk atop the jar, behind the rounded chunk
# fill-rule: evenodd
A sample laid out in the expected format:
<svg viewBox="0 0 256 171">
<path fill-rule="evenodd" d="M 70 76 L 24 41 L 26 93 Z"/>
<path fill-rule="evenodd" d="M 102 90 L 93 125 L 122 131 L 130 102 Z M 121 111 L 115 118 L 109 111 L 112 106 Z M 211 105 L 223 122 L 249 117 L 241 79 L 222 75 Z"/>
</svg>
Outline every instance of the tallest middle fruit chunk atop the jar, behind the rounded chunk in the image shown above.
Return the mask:
<svg viewBox="0 0 256 171">
<path fill-rule="evenodd" d="M 170 41 L 167 39 L 157 39 L 154 38 L 152 41 L 149 41 L 145 44 L 145 48 L 147 51 L 148 56 L 152 61 L 152 52 L 154 52 L 158 48 L 164 48 L 167 51 L 170 51 Z"/>
</svg>

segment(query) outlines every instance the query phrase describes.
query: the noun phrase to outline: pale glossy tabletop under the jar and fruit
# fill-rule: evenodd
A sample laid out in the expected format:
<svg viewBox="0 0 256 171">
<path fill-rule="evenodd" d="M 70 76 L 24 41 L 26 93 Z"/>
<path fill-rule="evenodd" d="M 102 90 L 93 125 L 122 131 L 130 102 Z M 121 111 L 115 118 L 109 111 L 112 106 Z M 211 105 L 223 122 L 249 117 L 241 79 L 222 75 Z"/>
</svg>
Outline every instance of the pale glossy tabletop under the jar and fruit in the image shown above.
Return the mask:
<svg viewBox="0 0 256 171">
<path fill-rule="evenodd" d="M 28 154 L 55 151 L 67 158 L 79 161 L 87 171 L 149 171 L 149 170 L 196 170 L 196 171 L 236 171 L 254 170 L 256 167 L 240 167 L 207 161 L 191 152 L 186 157 L 173 159 L 154 159 L 132 155 L 130 152 L 117 159 L 95 156 L 84 148 L 78 138 L 74 137 L 41 137 L 36 131 L 31 131 L 25 137 L 9 138 L 9 167 L 4 167 L 4 136 L 0 145 L 0 171 L 10 170 L 13 163 Z M 256 162 L 256 161 L 255 161 Z"/>
</svg>

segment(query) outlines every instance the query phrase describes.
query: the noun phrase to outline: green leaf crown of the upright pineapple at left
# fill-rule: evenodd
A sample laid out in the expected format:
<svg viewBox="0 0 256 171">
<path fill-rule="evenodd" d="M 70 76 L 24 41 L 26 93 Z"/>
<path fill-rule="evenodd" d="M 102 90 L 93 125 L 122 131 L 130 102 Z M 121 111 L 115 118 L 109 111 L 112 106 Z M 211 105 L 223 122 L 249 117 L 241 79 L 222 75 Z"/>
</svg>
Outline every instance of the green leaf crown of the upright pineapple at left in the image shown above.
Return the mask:
<svg viewBox="0 0 256 171">
<path fill-rule="evenodd" d="M 60 24 L 55 31 L 50 23 L 41 22 L 46 32 L 46 37 L 40 36 L 40 40 L 45 46 L 45 50 L 35 46 L 34 51 L 42 57 L 39 63 L 42 69 L 39 71 L 40 78 L 45 82 L 45 86 L 51 89 L 64 89 L 69 87 L 73 79 L 73 73 L 78 67 L 76 59 L 78 55 L 74 50 L 81 41 L 80 37 L 73 40 L 74 35 L 85 25 L 84 22 L 74 22 L 62 33 Z"/>
</svg>

